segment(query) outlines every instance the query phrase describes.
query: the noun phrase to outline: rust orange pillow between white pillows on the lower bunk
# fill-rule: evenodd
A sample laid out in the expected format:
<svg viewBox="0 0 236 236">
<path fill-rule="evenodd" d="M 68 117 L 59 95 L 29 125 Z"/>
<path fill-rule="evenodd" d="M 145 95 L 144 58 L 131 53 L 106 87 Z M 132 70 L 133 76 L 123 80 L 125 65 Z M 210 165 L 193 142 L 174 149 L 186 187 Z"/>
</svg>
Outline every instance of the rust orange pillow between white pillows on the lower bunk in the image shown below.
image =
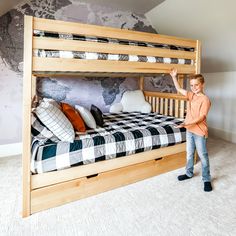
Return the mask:
<svg viewBox="0 0 236 236">
<path fill-rule="evenodd" d="M 74 129 L 79 132 L 85 132 L 86 127 L 83 119 L 78 111 L 76 111 L 71 105 L 67 103 L 61 103 L 62 111 L 73 125 Z"/>
</svg>

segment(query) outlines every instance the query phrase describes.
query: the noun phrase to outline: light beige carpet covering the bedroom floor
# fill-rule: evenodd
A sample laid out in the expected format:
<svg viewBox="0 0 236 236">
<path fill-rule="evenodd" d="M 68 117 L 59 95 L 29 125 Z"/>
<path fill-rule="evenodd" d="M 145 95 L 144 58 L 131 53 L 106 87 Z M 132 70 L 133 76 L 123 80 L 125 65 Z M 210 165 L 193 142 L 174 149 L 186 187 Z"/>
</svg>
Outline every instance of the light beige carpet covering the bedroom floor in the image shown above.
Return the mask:
<svg viewBox="0 0 236 236">
<path fill-rule="evenodd" d="M 236 235 L 236 144 L 208 141 L 214 191 L 200 163 L 22 219 L 21 157 L 0 159 L 0 235 Z"/>
</svg>

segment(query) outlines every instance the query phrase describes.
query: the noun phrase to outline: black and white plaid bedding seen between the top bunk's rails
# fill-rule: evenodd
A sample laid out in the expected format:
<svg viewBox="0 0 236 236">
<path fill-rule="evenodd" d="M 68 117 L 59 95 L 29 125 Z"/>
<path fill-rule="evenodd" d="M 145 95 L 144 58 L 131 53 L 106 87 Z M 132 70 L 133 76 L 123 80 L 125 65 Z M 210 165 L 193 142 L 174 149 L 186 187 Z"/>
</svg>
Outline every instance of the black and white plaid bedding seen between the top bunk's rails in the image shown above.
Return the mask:
<svg viewBox="0 0 236 236">
<path fill-rule="evenodd" d="M 141 46 L 141 47 L 165 48 L 165 49 L 171 49 L 171 50 L 194 51 L 193 48 L 184 48 L 184 47 L 167 45 L 167 44 L 154 44 L 154 43 L 118 40 L 118 39 L 112 39 L 112 38 L 86 37 L 86 36 L 74 35 L 74 34 L 45 32 L 45 31 L 40 31 L 40 30 L 34 30 L 34 36 L 63 38 L 63 39 L 68 39 L 68 40 L 92 41 L 92 42 L 100 42 L 100 43 L 115 43 L 115 44 Z M 136 62 L 150 62 L 150 63 L 193 65 L 193 60 L 190 60 L 190 59 L 165 58 L 165 57 L 128 55 L 128 54 L 111 54 L 111 53 L 100 53 L 100 52 L 80 52 L 80 51 L 66 51 L 66 50 L 35 49 L 33 54 L 35 57 L 74 58 L 74 59 L 86 59 L 86 60 L 136 61 Z"/>
</svg>

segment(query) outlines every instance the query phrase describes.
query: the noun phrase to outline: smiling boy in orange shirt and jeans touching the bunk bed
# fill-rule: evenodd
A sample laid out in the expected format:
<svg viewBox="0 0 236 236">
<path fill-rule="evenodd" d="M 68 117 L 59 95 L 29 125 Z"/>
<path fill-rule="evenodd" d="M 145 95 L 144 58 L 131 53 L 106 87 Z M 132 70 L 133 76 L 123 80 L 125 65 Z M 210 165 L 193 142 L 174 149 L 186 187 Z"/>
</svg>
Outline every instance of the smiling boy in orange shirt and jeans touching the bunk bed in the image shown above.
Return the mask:
<svg viewBox="0 0 236 236">
<path fill-rule="evenodd" d="M 188 99 L 187 114 L 184 122 L 178 127 L 187 129 L 187 164 L 186 174 L 178 176 L 178 180 L 186 180 L 193 177 L 194 152 L 197 149 L 198 156 L 202 163 L 202 180 L 204 182 L 204 191 L 212 191 L 210 166 L 206 147 L 206 138 L 208 137 L 208 128 L 206 123 L 207 113 L 211 102 L 203 93 L 204 77 L 201 74 L 190 77 L 191 92 L 180 87 L 177 81 L 177 70 L 172 69 L 170 75 L 173 79 L 176 90 Z"/>
</svg>

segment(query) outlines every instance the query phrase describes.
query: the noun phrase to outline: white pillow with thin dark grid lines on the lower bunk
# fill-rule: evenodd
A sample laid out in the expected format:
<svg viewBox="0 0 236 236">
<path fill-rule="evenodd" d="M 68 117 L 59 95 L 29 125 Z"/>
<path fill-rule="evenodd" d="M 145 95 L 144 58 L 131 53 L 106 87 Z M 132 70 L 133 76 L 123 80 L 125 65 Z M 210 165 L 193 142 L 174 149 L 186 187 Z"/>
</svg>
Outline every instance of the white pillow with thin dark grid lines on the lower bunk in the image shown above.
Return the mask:
<svg viewBox="0 0 236 236">
<path fill-rule="evenodd" d="M 72 124 L 52 101 L 44 99 L 36 107 L 35 113 L 41 122 L 63 142 L 73 142 L 75 132 Z"/>
</svg>

